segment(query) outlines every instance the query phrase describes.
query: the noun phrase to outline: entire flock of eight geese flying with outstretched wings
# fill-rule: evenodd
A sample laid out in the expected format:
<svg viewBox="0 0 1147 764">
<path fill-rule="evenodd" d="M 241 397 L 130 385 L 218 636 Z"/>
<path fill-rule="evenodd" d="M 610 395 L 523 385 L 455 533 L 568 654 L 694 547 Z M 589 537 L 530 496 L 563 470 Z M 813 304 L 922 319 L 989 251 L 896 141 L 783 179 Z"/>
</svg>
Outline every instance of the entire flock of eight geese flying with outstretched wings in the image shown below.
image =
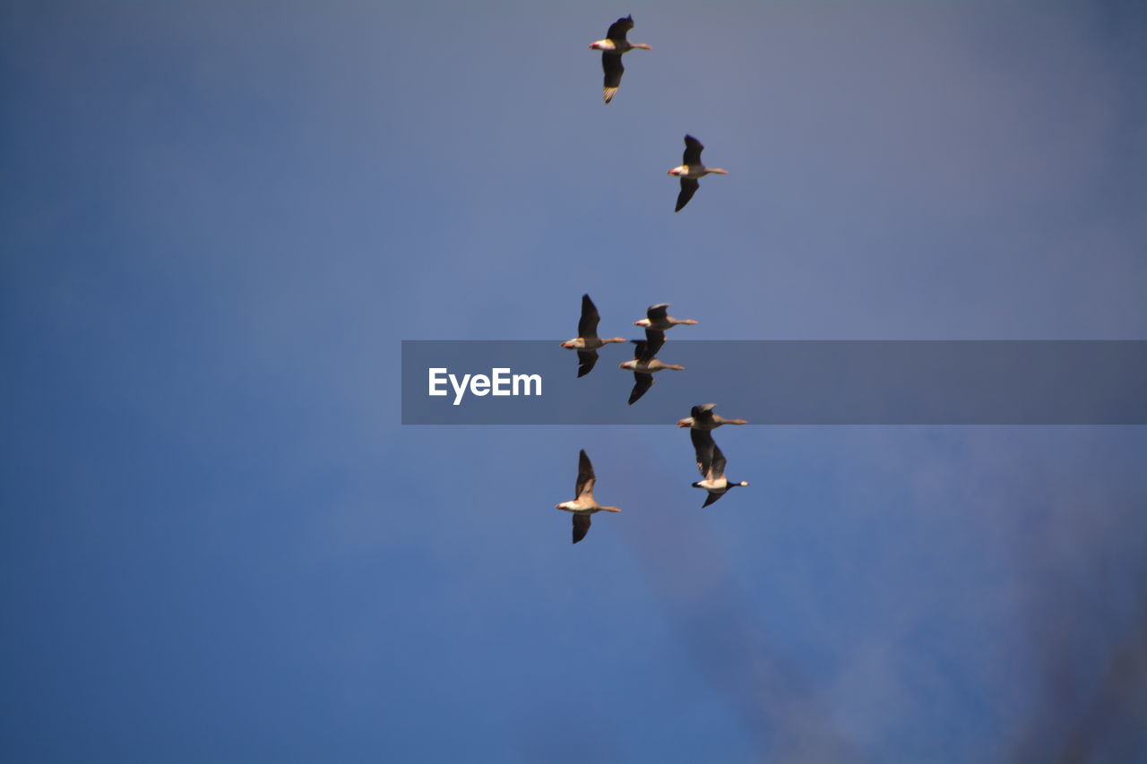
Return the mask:
<svg viewBox="0 0 1147 764">
<path fill-rule="evenodd" d="M 592 50 L 601 50 L 601 69 L 606 75 L 603 98 L 606 103 L 614 100 L 617 89 L 622 86 L 622 75 L 625 67 L 622 65 L 622 56 L 633 49 L 653 50 L 643 42 L 630 42 L 626 39 L 629 31 L 633 29 L 633 16 L 618 18 L 610 24 L 606 32 L 606 39 L 596 40 L 590 45 Z M 701 162 L 701 151 L 704 146 L 693 135 L 685 137 L 685 154 L 681 164 L 669 171 L 670 176 L 679 178 L 681 192 L 677 196 L 674 212 L 689 203 L 693 195 L 697 193 L 701 184 L 700 178 L 708 174 L 728 174 L 727 170 L 720 167 L 707 167 Z M 578 377 L 585 376 L 593 371 L 598 364 L 598 351 L 611 343 L 624 343 L 624 337 L 598 336 L 598 323 L 601 315 L 596 305 L 590 299 L 590 295 L 582 296 L 582 318 L 578 320 L 577 335 L 572 340 L 561 343 L 562 348 L 576 350 L 578 358 Z M 653 387 L 653 375 L 664 369 L 684 372 L 685 367 L 677 364 L 665 364 L 657 359 L 657 353 L 665 344 L 665 333 L 674 326 L 692 326 L 696 321 L 693 319 L 676 319 L 669 314 L 669 303 L 650 305 L 646 311 L 646 317 L 633 322 L 634 326 L 645 327 L 645 340 L 633 340 L 633 358 L 621 364 L 621 368 L 633 372 L 633 390 L 630 392 L 630 405 L 637 403 L 650 387 Z M 705 502 L 702 507 L 708 507 L 717 501 L 734 488 L 748 485 L 747 481 L 731 481 L 725 476 L 725 454 L 713 441 L 712 431 L 721 424 L 748 424 L 743 419 L 725 419 L 713 412 L 716 404 L 703 404 L 694 406 L 689 415 L 677 422 L 678 427 L 689 428 L 689 437 L 693 441 L 693 450 L 697 460 L 697 471 L 701 480 L 693 483 L 693 488 L 704 489 L 707 492 Z M 598 478 L 593 473 L 593 462 L 586 455 L 585 450 L 578 454 L 577 486 L 575 497 L 569 501 L 556 505 L 557 509 L 563 509 L 574 515 L 574 543 L 577 544 L 590 532 L 590 522 L 594 513 L 598 512 L 621 512 L 617 507 L 607 507 L 598 504 L 593 497 L 593 489 Z"/>
</svg>

